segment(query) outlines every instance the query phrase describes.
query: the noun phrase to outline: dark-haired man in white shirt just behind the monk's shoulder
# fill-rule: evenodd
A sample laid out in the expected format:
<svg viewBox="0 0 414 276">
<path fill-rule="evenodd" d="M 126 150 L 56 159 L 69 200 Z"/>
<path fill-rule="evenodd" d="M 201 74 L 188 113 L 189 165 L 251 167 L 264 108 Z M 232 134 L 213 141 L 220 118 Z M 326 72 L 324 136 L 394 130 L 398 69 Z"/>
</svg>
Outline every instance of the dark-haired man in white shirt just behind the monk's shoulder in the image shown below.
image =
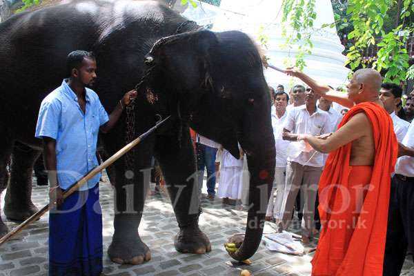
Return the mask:
<svg viewBox="0 0 414 276">
<path fill-rule="evenodd" d="M 404 121 L 394 112 L 395 107 L 401 101 L 401 96 L 402 89 L 400 86 L 397 86 L 395 83 L 382 83 L 380 90 L 380 100 L 382 103 L 384 103 L 384 108 L 391 116 L 391 119 L 393 119 L 395 136 L 397 137 L 397 141 L 400 143 L 406 135 L 408 126 L 410 126 L 410 123 L 408 123 L 408 121 Z"/>
</svg>

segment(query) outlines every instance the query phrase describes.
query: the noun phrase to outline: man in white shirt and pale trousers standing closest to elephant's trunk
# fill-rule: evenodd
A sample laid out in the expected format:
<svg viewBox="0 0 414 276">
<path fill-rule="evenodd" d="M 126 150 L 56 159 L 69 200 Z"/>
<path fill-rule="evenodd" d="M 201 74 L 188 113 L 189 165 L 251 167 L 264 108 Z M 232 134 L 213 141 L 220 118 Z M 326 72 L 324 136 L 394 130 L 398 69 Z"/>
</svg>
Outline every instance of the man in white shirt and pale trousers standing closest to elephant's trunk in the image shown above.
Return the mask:
<svg viewBox="0 0 414 276">
<path fill-rule="evenodd" d="M 284 205 L 282 202 L 284 199 L 286 181 L 287 148 L 290 141 L 282 139 L 282 132 L 284 121 L 287 117 L 286 106 L 288 106 L 288 101 L 289 96 L 285 92 L 279 91 L 275 93 L 275 109 L 272 111 L 272 127 L 273 135 L 275 135 L 276 168 L 275 180 L 273 182 L 272 192 L 270 193 L 265 219 L 266 221 L 273 221 L 273 219 L 275 219 L 277 223 L 282 220 L 282 214 L 284 213 Z M 277 192 L 276 198 L 273 198 L 275 191 Z"/>
</svg>

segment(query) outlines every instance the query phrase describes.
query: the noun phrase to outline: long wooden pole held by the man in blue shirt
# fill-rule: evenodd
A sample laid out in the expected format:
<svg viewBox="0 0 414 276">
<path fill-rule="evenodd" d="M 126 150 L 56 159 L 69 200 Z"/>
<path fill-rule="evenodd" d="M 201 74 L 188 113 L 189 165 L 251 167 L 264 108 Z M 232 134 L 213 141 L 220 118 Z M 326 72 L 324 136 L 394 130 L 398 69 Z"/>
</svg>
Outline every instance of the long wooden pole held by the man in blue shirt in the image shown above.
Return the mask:
<svg viewBox="0 0 414 276">
<path fill-rule="evenodd" d="M 72 193 L 74 193 L 76 190 L 78 190 L 79 187 L 81 187 L 84 184 L 88 183 L 88 180 L 92 179 L 92 177 L 95 177 L 95 175 L 97 175 L 98 172 L 100 172 L 101 170 L 107 168 L 112 163 L 117 161 L 117 159 L 119 159 L 123 155 L 125 155 L 126 152 L 132 150 L 132 148 L 137 146 L 137 144 L 139 144 L 143 139 L 145 139 L 148 135 L 150 135 L 152 132 L 154 132 L 159 126 L 161 126 L 161 124 L 164 124 L 164 122 L 167 121 L 168 119 L 170 119 L 170 117 L 171 116 L 168 116 L 168 117 L 166 117 L 166 119 L 164 119 L 162 121 L 159 121 L 159 123 L 157 123 L 155 126 L 150 128 L 147 132 L 145 132 L 144 134 L 140 135 L 139 137 L 137 137 L 136 139 L 131 141 L 130 144 L 124 146 L 124 148 L 121 148 L 120 150 L 118 150 L 115 153 L 115 155 L 112 155 L 110 158 L 106 159 L 106 161 L 104 161 L 101 165 L 97 166 L 96 168 L 94 168 L 90 172 L 88 172 L 87 175 L 82 177 L 79 181 L 77 181 L 75 184 L 70 186 L 70 188 L 68 188 L 68 190 L 66 190 L 63 193 L 63 199 L 66 199 L 66 197 L 69 197 L 70 195 L 72 195 Z M 37 219 L 39 219 L 42 215 L 44 215 L 44 213 L 48 212 L 49 209 L 50 209 L 50 204 L 44 206 L 39 211 L 37 211 L 37 213 L 33 214 L 31 217 L 29 217 L 28 219 L 23 221 L 19 226 L 17 226 L 13 230 L 11 230 L 9 233 L 7 233 L 3 237 L 1 237 L 0 246 L 2 244 L 4 244 L 5 242 L 7 242 L 14 235 L 17 235 L 17 233 L 20 233 L 21 230 L 23 230 L 23 228 L 25 228 L 26 226 L 31 224 L 33 221 L 36 221 Z"/>
</svg>

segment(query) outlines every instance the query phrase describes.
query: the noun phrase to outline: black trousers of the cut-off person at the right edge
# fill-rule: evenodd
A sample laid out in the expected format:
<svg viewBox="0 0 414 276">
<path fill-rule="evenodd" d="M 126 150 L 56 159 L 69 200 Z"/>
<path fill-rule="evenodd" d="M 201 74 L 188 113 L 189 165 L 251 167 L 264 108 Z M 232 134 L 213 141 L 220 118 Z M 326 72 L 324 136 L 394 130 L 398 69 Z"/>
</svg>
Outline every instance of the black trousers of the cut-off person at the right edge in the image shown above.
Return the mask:
<svg viewBox="0 0 414 276">
<path fill-rule="evenodd" d="M 391 179 L 384 276 L 400 275 L 407 248 L 414 252 L 414 181 Z"/>
</svg>

